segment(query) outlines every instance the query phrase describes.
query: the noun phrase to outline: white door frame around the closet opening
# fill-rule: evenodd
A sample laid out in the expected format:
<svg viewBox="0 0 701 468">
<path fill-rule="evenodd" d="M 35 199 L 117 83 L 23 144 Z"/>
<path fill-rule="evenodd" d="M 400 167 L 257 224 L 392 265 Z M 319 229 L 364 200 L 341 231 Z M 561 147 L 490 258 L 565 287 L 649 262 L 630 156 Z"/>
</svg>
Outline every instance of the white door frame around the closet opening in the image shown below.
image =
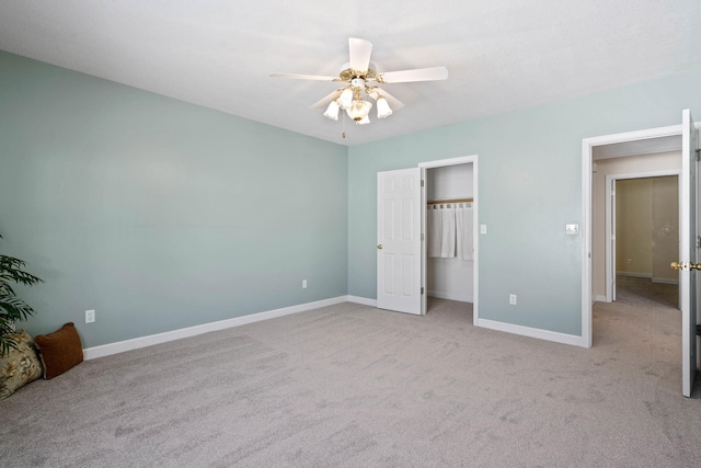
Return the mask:
<svg viewBox="0 0 701 468">
<path fill-rule="evenodd" d="M 433 168 L 443 168 L 446 165 L 457 165 L 457 164 L 472 164 L 472 190 L 473 190 L 473 194 L 472 194 L 472 198 L 473 198 L 473 203 L 472 203 L 472 216 L 474 219 L 473 222 L 473 239 L 474 239 L 474 258 L 473 258 L 473 262 L 474 262 L 474 272 L 473 272 L 473 276 L 472 276 L 472 290 L 473 290 L 473 303 L 472 303 L 472 323 L 476 326 L 478 320 L 480 318 L 480 289 L 479 289 L 479 255 L 480 255 L 480 249 L 478 248 L 479 244 L 479 236 L 478 236 L 478 209 L 480 207 L 480 204 L 478 203 L 478 155 L 472 155 L 472 156 L 462 156 L 459 158 L 450 158 L 450 159 L 439 159 L 439 160 L 435 160 L 435 161 L 426 161 L 426 162 L 420 162 L 418 167 L 421 168 L 421 179 L 422 181 L 426 180 L 426 170 L 427 169 L 433 169 Z M 422 187 L 421 191 L 421 204 L 422 204 L 422 215 L 421 215 L 421 230 L 423 232 L 423 238 L 424 241 L 421 243 L 421 286 L 423 288 L 423 290 L 425 292 L 425 294 L 422 295 L 422 304 L 421 304 L 421 310 L 422 310 L 422 315 L 426 313 L 426 308 L 427 308 L 427 296 L 428 296 L 428 285 L 427 285 L 427 274 L 426 274 L 426 265 L 428 263 L 428 249 L 426 249 L 426 186 L 424 183 L 424 186 Z"/>
</svg>

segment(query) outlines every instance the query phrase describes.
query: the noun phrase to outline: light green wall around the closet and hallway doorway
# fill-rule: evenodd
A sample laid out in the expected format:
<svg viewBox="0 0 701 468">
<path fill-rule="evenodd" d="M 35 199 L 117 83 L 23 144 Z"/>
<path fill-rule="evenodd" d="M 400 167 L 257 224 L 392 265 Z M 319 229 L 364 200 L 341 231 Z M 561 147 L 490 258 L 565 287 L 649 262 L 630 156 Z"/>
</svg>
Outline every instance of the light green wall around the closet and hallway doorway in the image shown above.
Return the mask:
<svg viewBox="0 0 701 468">
<path fill-rule="evenodd" d="M 583 237 L 565 225 L 583 227 L 582 139 L 701 118 L 699 83 L 696 69 L 349 148 L 348 294 L 377 297 L 376 173 L 478 155 L 480 317 L 581 335 Z"/>
</svg>

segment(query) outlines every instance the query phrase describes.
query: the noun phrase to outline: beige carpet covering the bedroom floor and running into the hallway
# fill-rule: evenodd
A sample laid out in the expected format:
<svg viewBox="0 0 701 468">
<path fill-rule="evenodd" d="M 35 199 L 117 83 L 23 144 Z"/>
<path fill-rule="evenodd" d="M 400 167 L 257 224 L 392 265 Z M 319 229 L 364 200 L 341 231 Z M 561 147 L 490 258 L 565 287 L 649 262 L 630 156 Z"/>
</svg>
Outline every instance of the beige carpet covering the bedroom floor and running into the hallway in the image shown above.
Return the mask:
<svg viewBox="0 0 701 468">
<path fill-rule="evenodd" d="M 679 311 L 595 307 L 590 350 L 342 304 L 82 363 L 0 402 L 8 467 L 698 467 Z"/>
</svg>

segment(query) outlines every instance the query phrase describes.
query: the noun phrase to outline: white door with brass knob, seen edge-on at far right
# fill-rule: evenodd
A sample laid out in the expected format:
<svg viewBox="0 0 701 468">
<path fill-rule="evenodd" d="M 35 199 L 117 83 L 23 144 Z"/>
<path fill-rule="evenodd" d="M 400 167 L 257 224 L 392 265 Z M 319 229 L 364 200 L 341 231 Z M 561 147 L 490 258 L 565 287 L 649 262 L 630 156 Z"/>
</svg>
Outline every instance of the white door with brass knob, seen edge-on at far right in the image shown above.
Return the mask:
<svg viewBox="0 0 701 468">
<path fill-rule="evenodd" d="M 681 118 L 679 176 L 679 296 L 681 309 L 681 392 L 691 396 L 697 372 L 697 133 L 689 110 Z"/>
</svg>

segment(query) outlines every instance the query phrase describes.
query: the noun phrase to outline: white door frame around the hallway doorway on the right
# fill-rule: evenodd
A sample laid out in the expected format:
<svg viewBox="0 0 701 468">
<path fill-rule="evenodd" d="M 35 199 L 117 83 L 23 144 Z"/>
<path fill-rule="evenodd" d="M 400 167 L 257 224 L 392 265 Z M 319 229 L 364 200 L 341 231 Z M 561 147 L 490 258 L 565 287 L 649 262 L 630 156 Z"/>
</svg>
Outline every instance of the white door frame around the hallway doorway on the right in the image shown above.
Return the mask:
<svg viewBox="0 0 701 468">
<path fill-rule="evenodd" d="M 681 125 L 582 139 L 582 216 L 585 233 L 582 249 L 582 346 L 584 347 L 591 347 L 591 163 L 594 147 L 669 136 L 681 137 Z"/>
</svg>

